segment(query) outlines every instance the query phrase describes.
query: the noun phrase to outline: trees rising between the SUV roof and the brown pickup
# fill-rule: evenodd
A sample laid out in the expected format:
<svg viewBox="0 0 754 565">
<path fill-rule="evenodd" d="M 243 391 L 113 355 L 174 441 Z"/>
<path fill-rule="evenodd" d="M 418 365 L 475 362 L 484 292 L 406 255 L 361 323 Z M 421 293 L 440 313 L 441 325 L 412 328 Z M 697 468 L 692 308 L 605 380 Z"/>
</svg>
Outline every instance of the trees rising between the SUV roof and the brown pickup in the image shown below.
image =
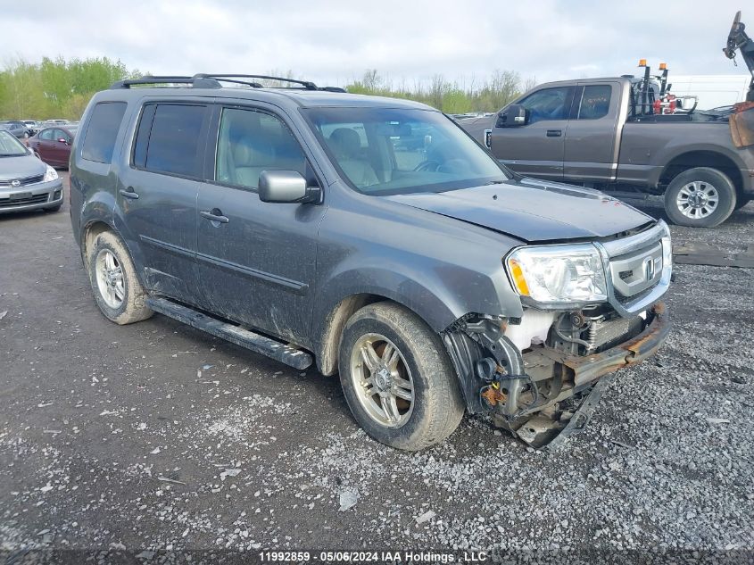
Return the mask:
<svg viewBox="0 0 754 565">
<path fill-rule="evenodd" d="M 443 75 L 435 75 L 428 85 L 394 87 L 390 80 L 379 75 L 377 69 L 369 69 L 361 79 L 354 80 L 346 88 L 354 94 L 416 100 L 445 113 L 497 112 L 528 90 L 532 82 L 530 79 L 523 85 L 515 71 L 494 71 L 489 78 L 479 83 L 472 80 L 470 85 L 451 82 Z"/>
</svg>

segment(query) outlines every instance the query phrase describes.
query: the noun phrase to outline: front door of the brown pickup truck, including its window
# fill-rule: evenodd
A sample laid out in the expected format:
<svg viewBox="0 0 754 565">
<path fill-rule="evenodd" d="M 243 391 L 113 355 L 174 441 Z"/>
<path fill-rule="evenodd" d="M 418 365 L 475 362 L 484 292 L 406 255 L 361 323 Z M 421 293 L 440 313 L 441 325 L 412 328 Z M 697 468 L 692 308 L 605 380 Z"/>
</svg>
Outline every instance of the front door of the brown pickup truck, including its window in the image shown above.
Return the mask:
<svg viewBox="0 0 754 565">
<path fill-rule="evenodd" d="M 494 127 L 493 155 L 522 175 L 563 179 L 568 113 L 575 90 L 574 86 L 540 88 L 519 101 L 528 111 L 526 125 Z"/>
</svg>

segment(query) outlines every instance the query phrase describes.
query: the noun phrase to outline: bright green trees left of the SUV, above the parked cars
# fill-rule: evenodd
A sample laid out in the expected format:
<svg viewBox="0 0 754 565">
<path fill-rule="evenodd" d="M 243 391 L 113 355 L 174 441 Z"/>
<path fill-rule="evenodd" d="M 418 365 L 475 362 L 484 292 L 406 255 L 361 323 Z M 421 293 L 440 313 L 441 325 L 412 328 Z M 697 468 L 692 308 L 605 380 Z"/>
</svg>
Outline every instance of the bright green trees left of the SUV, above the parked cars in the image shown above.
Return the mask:
<svg viewBox="0 0 754 565">
<path fill-rule="evenodd" d="M 0 120 L 79 120 L 95 92 L 140 75 L 107 57 L 45 57 L 37 64 L 18 59 L 0 71 Z"/>
</svg>

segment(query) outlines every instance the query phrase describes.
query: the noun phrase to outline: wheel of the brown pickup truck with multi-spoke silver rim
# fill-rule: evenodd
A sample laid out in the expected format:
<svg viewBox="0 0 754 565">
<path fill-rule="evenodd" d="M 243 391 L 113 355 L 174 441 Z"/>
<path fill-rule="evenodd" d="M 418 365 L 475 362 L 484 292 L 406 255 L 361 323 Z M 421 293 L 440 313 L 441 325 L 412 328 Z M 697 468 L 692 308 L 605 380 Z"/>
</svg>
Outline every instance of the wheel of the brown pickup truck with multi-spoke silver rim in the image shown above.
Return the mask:
<svg viewBox="0 0 754 565">
<path fill-rule="evenodd" d="M 667 217 L 679 226 L 714 228 L 727 220 L 735 204 L 731 179 L 708 167 L 682 172 L 665 191 Z"/>
</svg>

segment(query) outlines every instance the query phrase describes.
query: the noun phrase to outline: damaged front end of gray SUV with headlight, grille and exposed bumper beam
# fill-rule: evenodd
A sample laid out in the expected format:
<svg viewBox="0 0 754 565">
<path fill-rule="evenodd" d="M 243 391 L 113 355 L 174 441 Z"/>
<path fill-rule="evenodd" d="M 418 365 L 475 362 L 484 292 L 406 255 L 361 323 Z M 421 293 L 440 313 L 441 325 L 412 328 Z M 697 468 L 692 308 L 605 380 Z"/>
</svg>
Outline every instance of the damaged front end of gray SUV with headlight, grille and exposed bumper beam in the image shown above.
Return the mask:
<svg viewBox="0 0 754 565">
<path fill-rule="evenodd" d="M 470 413 L 489 413 L 528 445 L 550 448 L 584 428 L 604 376 L 655 353 L 664 303 L 667 225 L 627 237 L 523 245 L 502 262 L 520 318 L 471 313 L 443 332 Z"/>
</svg>

